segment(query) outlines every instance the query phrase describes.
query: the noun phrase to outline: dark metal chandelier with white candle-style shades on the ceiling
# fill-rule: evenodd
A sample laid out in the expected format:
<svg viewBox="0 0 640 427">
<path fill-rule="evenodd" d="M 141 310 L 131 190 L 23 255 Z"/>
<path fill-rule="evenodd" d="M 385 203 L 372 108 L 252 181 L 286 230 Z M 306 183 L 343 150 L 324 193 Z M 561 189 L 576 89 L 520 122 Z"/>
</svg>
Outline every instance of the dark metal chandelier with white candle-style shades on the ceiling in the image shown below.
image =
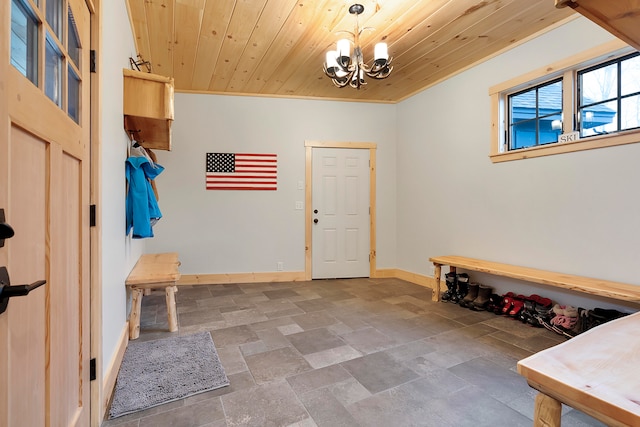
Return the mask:
<svg viewBox="0 0 640 427">
<path fill-rule="evenodd" d="M 324 72 L 334 85 L 337 87 L 351 86 L 354 89 L 360 89 L 360 86 L 367 84 L 364 81 L 364 75 L 374 79 L 384 79 L 391 74 L 393 67 L 391 59 L 387 51 L 386 43 L 377 43 L 373 49 L 373 64 L 367 65 L 362 56 L 362 48 L 360 47 L 360 34 L 364 30 L 373 30 L 371 27 L 360 29 L 358 26 L 358 15 L 364 12 L 364 6 L 354 4 L 349 7 L 349 13 L 356 16 L 356 28 L 351 31 L 340 31 L 349 33 L 353 40 L 338 40 L 336 50 L 327 52 Z M 351 54 L 351 43 L 353 43 L 353 55 Z"/>
</svg>

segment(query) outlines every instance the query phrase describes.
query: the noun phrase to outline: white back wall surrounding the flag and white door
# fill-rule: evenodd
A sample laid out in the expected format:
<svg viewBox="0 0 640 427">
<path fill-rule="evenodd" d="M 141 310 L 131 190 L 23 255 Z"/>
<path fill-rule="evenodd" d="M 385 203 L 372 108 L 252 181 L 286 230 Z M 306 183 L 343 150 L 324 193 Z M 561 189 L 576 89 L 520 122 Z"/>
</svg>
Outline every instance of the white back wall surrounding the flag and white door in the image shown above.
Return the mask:
<svg viewBox="0 0 640 427">
<path fill-rule="evenodd" d="M 329 80 L 319 84 L 331 84 Z M 336 89 L 339 90 L 339 89 Z M 345 88 L 343 90 L 353 90 Z M 173 150 L 156 151 L 163 218 L 148 252 L 177 251 L 182 274 L 304 271 L 305 140 L 377 144 L 377 265 L 395 266 L 396 106 L 176 94 Z M 277 191 L 207 191 L 207 152 L 278 155 Z"/>
</svg>

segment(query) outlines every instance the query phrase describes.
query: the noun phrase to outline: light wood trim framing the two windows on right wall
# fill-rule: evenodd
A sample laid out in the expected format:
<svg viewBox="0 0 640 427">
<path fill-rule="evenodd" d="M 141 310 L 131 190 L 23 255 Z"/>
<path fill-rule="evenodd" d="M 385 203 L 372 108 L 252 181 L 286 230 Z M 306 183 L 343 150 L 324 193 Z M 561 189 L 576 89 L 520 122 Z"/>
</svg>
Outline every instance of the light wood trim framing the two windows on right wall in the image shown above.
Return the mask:
<svg viewBox="0 0 640 427">
<path fill-rule="evenodd" d="M 612 147 L 640 142 L 640 130 L 633 129 L 608 135 L 590 136 L 572 142 L 551 143 L 519 150 L 508 151 L 506 140 L 508 118 L 508 96 L 515 92 L 533 88 L 562 76 L 562 131 L 573 132 L 576 114 L 577 71 L 601 62 L 634 52 L 621 40 L 614 40 L 589 49 L 563 61 L 542 67 L 515 79 L 489 88 L 491 97 L 491 148 L 489 157 L 493 163 Z"/>
</svg>

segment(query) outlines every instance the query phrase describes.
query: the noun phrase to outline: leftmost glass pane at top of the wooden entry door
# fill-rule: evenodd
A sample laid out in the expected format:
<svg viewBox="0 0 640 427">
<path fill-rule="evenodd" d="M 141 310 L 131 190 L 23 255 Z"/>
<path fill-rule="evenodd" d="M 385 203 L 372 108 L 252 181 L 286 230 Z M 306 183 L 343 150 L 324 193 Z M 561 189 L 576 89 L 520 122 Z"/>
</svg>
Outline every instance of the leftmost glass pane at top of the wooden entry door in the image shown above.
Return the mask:
<svg viewBox="0 0 640 427">
<path fill-rule="evenodd" d="M 11 1 L 11 64 L 38 84 L 38 25 L 19 0 Z"/>
</svg>

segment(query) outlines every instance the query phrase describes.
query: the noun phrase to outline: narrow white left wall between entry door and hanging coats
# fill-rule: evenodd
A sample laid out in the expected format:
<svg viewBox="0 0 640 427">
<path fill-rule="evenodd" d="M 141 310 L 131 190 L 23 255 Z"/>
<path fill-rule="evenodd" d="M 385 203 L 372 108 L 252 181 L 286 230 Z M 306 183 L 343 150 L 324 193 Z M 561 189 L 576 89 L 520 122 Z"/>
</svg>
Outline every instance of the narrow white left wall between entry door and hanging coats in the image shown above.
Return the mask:
<svg viewBox="0 0 640 427">
<path fill-rule="evenodd" d="M 102 3 L 102 360 L 103 374 L 117 350 L 127 320 L 124 281 L 144 250 L 143 241 L 125 236 L 125 177 L 128 138 L 122 126 L 122 69 L 135 57 L 124 1 Z"/>
</svg>

